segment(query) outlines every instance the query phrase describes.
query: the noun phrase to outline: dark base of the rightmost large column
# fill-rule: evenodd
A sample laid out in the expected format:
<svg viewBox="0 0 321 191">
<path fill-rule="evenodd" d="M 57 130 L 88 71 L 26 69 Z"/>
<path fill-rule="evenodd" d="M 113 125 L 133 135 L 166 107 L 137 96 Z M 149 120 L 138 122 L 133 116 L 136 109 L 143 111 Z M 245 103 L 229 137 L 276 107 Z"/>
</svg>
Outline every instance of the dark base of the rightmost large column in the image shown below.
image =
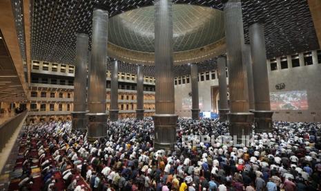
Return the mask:
<svg viewBox="0 0 321 191">
<path fill-rule="evenodd" d="M 256 133 L 269 133 L 273 130 L 273 111 L 253 111 Z"/>
</svg>

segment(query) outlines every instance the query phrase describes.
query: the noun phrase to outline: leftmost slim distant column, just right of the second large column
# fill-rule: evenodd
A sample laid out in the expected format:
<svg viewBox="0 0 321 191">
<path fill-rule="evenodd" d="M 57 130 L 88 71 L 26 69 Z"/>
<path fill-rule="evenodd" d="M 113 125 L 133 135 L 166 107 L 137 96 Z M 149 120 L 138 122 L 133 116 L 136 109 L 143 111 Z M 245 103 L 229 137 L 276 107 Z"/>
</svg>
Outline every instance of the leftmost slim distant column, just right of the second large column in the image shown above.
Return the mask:
<svg viewBox="0 0 321 191">
<path fill-rule="evenodd" d="M 109 118 L 111 121 L 118 120 L 118 61 L 117 60 L 113 60 L 111 62 Z"/>
</svg>

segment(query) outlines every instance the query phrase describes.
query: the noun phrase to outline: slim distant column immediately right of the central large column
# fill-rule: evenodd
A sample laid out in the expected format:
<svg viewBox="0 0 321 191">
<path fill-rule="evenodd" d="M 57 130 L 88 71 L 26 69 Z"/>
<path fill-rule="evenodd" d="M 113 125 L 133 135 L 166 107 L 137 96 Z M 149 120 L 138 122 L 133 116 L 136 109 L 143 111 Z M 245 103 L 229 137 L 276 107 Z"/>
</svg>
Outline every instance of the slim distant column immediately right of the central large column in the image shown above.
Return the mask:
<svg viewBox="0 0 321 191">
<path fill-rule="evenodd" d="M 198 98 L 198 66 L 191 64 L 191 88 L 192 88 L 192 118 L 200 119 L 200 106 Z"/>
</svg>

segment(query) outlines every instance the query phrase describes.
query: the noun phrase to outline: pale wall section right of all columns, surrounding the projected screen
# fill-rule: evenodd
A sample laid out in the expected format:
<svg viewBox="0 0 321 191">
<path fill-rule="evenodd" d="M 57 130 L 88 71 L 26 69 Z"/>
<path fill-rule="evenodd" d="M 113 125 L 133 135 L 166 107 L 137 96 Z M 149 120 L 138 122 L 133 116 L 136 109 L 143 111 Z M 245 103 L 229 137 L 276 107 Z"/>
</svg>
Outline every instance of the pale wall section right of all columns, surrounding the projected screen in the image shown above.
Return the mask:
<svg viewBox="0 0 321 191">
<path fill-rule="evenodd" d="M 285 88 L 277 90 L 275 85 L 280 83 Z M 270 92 L 306 90 L 308 96 L 309 109 L 273 110 L 273 120 L 321 122 L 321 64 L 269 71 L 269 88 Z"/>
</svg>

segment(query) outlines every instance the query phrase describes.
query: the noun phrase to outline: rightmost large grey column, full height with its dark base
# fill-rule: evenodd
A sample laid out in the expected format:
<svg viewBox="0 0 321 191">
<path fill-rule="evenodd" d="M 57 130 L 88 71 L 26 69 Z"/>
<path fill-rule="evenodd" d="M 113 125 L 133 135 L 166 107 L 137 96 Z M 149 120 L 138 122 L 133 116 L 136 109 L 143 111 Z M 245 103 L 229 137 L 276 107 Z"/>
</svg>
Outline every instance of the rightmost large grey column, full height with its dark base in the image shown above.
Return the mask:
<svg viewBox="0 0 321 191">
<path fill-rule="evenodd" d="M 255 23 L 249 27 L 251 53 L 253 58 L 253 87 L 255 98 L 255 131 L 272 131 L 272 115 L 270 105 L 269 78 L 266 66 L 266 50 L 264 28 Z"/>
</svg>

